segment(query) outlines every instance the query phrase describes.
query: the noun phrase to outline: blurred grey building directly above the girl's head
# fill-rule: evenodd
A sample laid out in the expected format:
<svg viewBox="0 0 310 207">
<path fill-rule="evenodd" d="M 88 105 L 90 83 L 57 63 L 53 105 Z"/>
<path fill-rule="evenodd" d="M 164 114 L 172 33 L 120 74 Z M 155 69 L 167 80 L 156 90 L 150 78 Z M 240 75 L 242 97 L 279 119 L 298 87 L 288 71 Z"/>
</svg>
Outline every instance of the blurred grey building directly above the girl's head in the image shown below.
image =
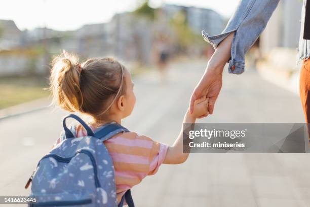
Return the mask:
<svg viewBox="0 0 310 207">
<path fill-rule="evenodd" d="M 114 15 L 107 23 L 84 25 L 71 38 L 62 39 L 60 47 L 85 57 L 115 55 L 123 60 L 147 63 L 151 30 L 148 20 L 126 12 Z"/>
</svg>

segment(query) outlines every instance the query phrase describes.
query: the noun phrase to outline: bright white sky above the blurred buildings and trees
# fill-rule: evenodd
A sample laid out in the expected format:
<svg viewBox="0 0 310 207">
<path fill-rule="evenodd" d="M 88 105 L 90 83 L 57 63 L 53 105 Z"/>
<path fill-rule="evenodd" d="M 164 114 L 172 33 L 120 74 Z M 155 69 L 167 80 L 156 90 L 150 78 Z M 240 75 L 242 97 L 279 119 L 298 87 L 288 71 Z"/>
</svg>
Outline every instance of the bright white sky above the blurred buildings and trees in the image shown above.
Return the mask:
<svg viewBox="0 0 310 207">
<path fill-rule="evenodd" d="M 176 4 L 210 8 L 229 17 L 239 0 L 150 0 L 150 6 Z M 115 13 L 133 11 L 141 0 L 2 0 L 0 19 L 14 20 L 21 30 L 43 27 L 74 30 L 84 24 L 108 22 Z"/>
</svg>

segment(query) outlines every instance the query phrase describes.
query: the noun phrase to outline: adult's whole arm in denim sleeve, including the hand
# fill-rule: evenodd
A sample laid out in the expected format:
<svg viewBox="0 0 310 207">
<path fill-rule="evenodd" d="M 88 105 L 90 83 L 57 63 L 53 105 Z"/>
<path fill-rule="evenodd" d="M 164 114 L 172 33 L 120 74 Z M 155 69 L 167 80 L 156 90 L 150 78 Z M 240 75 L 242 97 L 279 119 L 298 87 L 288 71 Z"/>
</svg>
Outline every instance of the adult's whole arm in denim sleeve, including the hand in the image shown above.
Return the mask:
<svg viewBox="0 0 310 207">
<path fill-rule="evenodd" d="M 223 67 L 229 61 L 228 73 L 242 74 L 245 66 L 245 54 L 266 27 L 276 9 L 279 0 L 242 0 L 223 32 L 204 39 L 215 52 L 208 62 L 206 71 L 190 98 L 190 113 L 193 102 L 202 96 L 209 97 L 208 110 L 213 113 L 215 101 L 222 86 Z"/>
</svg>

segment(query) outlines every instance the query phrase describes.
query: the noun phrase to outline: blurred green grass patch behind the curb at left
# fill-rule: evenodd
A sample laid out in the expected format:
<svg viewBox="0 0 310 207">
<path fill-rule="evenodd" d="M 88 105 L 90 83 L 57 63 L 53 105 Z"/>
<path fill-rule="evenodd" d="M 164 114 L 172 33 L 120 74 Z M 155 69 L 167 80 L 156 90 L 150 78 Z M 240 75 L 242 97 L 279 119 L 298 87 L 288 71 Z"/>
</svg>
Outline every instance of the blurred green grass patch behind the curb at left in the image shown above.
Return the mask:
<svg viewBox="0 0 310 207">
<path fill-rule="evenodd" d="M 45 77 L 1 77 L 0 109 L 47 97 L 49 91 L 43 90 L 47 87 Z"/>
</svg>

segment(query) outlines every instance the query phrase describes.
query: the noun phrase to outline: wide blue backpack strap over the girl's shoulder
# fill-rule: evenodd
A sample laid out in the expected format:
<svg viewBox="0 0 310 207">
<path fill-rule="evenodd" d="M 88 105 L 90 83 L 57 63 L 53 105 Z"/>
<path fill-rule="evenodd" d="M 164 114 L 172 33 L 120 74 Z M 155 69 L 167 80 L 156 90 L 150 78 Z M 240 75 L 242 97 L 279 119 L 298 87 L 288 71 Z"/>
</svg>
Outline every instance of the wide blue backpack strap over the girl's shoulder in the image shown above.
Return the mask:
<svg viewBox="0 0 310 207">
<path fill-rule="evenodd" d="M 114 136 L 115 134 L 118 134 L 121 132 L 129 132 L 129 130 L 123 127 L 122 125 L 113 122 L 113 123 L 105 124 L 102 127 L 100 127 L 98 130 L 96 130 L 94 136 L 101 141 L 106 141 L 110 139 L 112 136 Z"/>
</svg>

